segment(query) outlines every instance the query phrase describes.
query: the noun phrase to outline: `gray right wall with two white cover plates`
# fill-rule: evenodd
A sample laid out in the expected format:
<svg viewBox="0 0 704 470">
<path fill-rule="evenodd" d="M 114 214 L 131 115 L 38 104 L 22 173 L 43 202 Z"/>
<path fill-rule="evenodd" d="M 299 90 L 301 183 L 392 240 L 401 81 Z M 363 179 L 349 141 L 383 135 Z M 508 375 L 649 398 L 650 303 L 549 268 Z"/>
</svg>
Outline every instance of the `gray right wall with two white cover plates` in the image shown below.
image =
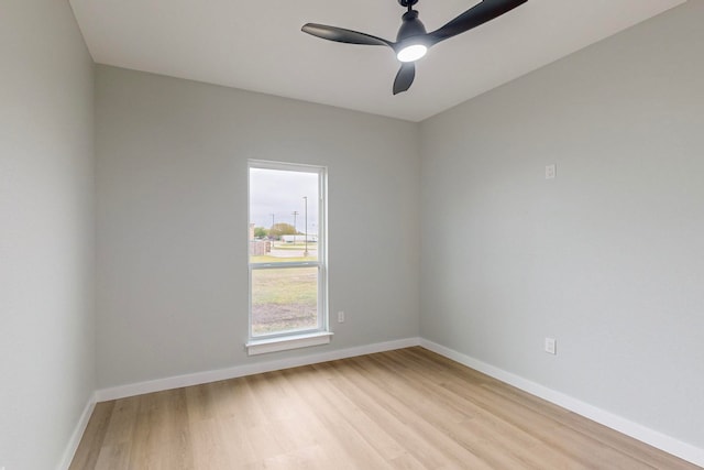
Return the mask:
<svg viewBox="0 0 704 470">
<path fill-rule="evenodd" d="M 700 448 L 702 19 L 690 1 L 421 125 L 421 336 Z"/>
</svg>

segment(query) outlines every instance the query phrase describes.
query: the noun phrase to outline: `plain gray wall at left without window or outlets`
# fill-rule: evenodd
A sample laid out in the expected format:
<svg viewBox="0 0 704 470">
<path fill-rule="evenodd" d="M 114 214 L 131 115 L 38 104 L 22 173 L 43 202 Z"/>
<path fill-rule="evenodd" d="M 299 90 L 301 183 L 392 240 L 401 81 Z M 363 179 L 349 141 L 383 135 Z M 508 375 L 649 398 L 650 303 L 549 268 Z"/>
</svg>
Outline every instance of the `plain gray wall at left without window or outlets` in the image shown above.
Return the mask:
<svg viewBox="0 0 704 470">
<path fill-rule="evenodd" d="M 0 10 L 0 467 L 46 470 L 96 389 L 92 62 L 67 1 Z"/>
</svg>

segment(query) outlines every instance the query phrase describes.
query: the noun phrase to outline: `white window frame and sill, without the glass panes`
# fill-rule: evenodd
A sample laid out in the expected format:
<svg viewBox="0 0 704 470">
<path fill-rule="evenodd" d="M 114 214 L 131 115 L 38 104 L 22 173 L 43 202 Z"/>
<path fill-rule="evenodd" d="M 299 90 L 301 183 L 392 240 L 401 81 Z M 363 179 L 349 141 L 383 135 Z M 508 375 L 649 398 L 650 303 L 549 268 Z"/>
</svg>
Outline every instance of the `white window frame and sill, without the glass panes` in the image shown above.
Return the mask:
<svg viewBox="0 0 704 470">
<path fill-rule="evenodd" d="M 248 336 L 245 345 L 248 354 L 263 354 L 267 352 L 285 351 L 289 349 L 307 348 L 310 346 L 327 345 L 330 342 L 332 332 L 329 328 L 328 311 L 328 225 L 327 225 L 327 189 L 328 170 L 324 166 L 305 165 L 298 163 L 272 162 L 264 160 L 248 161 L 248 227 L 252 220 L 251 208 L 251 185 L 250 175 L 252 168 L 278 170 L 286 172 L 317 173 L 318 174 L 318 260 L 307 262 L 282 262 L 282 263 L 252 263 L 250 261 L 248 240 L 248 267 L 249 267 L 249 300 L 248 300 Z M 255 270 L 270 269 L 296 269 L 296 267 L 318 267 L 318 325 L 316 328 L 305 330 L 285 331 L 272 335 L 252 335 L 252 272 Z"/>
</svg>

